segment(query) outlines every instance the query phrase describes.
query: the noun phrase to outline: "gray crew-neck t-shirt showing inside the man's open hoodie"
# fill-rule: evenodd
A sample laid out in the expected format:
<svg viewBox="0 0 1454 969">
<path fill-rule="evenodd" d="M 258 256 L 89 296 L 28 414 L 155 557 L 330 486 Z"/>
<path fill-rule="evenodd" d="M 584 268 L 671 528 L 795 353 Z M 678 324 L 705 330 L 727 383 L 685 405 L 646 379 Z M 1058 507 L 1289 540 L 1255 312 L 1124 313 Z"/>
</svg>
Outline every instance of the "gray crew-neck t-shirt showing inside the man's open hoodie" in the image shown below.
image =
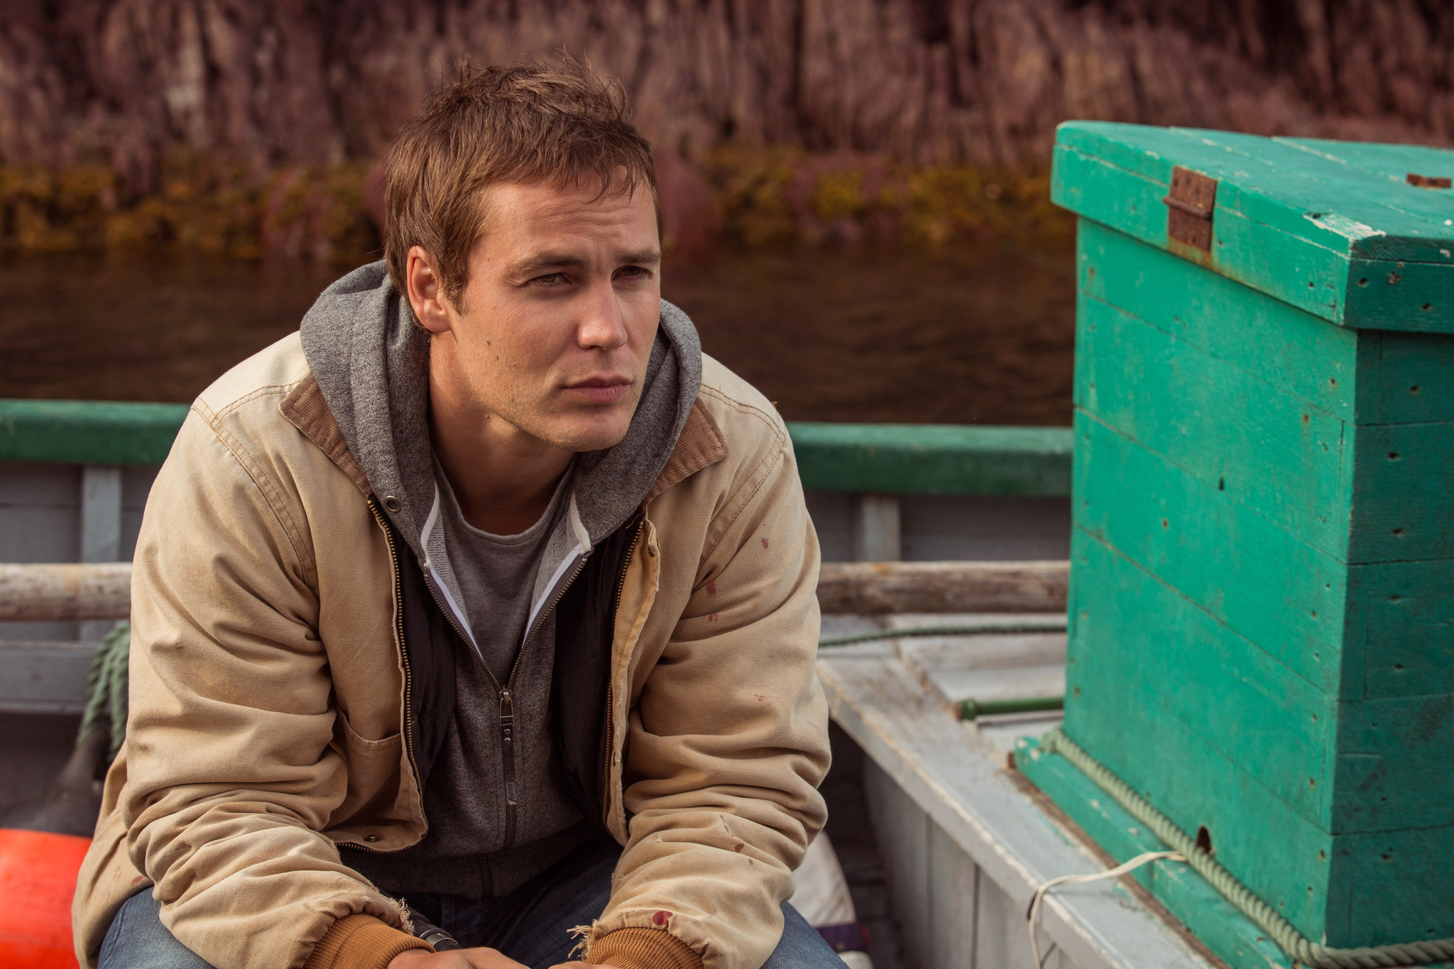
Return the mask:
<svg viewBox="0 0 1454 969">
<path fill-rule="evenodd" d="M 545 542 L 566 507 L 570 474 L 567 469 L 561 475 L 550 507 L 535 524 L 519 535 L 493 535 L 465 522 L 443 468 L 435 462 L 441 495 L 439 520 L 449 549 L 449 565 L 464 599 L 459 607 L 470 619 L 470 632 L 484 665 L 502 686 L 509 680 L 510 667 L 525 639 L 535 572 Z"/>
</svg>

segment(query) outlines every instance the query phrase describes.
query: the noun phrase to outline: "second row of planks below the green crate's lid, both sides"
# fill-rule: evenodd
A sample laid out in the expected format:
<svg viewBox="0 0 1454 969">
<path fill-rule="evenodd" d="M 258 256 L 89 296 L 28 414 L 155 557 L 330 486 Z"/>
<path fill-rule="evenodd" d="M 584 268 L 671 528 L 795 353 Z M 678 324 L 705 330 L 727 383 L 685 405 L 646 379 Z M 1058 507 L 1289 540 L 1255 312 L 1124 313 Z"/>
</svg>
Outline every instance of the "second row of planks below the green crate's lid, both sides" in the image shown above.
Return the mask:
<svg viewBox="0 0 1454 969">
<path fill-rule="evenodd" d="M 1077 405 L 1147 450 L 1343 562 L 1454 558 L 1454 421 L 1352 426 L 1095 299 L 1079 334 Z"/>
</svg>

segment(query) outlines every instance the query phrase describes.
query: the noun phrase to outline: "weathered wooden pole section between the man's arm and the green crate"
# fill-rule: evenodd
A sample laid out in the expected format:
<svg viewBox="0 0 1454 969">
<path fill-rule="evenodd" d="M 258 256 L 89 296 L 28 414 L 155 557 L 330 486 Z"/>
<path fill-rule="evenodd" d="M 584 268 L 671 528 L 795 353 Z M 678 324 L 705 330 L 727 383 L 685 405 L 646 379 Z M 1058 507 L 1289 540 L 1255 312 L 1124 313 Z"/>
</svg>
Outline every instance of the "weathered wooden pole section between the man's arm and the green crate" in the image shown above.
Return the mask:
<svg viewBox="0 0 1454 969">
<path fill-rule="evenodd" d="M 1060 612 L 1069 562 L 824 562 L 824 613 Z"/>
</svg>

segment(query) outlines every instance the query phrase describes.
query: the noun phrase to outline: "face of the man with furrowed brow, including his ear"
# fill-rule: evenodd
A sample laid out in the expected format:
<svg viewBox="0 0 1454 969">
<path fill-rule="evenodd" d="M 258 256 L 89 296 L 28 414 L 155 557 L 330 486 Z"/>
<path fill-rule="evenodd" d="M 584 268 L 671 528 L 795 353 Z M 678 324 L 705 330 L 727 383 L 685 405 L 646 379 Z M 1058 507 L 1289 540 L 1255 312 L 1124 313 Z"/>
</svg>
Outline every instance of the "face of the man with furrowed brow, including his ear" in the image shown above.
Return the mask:
<svg viewBox="0 0 1454 969">
<path fill-rule="evenodd" d="M 564 450 L 625 437 L 662 311 L 651 193 L 496 183 L 458 305 L 410 298 L 436 386 Z M 410 251 L 410 276 L 414 276 Z"/>
</svg>

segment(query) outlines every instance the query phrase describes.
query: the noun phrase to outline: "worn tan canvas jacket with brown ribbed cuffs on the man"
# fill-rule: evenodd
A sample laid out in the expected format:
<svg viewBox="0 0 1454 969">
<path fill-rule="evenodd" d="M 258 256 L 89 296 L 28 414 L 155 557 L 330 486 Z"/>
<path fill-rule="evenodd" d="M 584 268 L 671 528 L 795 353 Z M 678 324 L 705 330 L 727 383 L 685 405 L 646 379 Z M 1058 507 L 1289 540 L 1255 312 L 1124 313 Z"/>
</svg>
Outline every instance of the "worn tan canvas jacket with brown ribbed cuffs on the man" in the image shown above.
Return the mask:
<svg viewBox="0 0 1454 969">
<path fill-rule="evenodd" d="M 644 511 L 602 779 L 625 847 L 586 957 L 756 969 L 826 816 L 819 548 L 776 411 L 710 357 Z M 129 734 L 74 902 L 87 969 L 147 886 L 220 969 L 372 968 L 419 944 L 336 850 L 425 832 L 379 514 L 297 334 L 192 405 L 137 543 Z"/>
</svg>

